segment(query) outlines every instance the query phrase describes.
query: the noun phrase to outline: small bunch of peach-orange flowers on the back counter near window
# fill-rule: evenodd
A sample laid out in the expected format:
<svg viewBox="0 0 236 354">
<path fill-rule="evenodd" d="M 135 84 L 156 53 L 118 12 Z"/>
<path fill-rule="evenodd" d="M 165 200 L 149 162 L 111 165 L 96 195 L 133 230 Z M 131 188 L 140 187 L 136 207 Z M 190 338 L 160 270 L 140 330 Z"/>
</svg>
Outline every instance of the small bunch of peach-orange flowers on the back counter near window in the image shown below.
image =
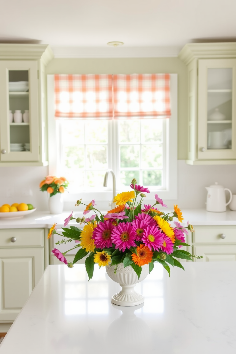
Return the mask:
<svg viewBox="0 0 236 354">
<path fill-rule="evenodd" d="M 65 177 L 47 176 L 40 182 L 39 188 L 42 192 L 45 190 L 50 193 L 50 197 L 57 193 L 64 193 L 68 187 L 68 181 Z"/>
</svg>

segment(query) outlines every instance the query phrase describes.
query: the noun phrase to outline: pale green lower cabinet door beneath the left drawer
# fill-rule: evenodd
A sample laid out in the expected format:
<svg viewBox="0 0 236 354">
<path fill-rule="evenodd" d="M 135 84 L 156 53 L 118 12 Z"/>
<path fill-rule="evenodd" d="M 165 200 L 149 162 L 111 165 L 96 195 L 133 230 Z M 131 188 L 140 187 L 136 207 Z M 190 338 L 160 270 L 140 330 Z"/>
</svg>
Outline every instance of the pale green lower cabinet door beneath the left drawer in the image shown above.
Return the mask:
<svg viewBox="0 0 236 354">
<path fill-rule="evenodd" d="M 0 321 L 15 320 L 44 272 L 44 249 L 0 249 Z"/>
</svg>

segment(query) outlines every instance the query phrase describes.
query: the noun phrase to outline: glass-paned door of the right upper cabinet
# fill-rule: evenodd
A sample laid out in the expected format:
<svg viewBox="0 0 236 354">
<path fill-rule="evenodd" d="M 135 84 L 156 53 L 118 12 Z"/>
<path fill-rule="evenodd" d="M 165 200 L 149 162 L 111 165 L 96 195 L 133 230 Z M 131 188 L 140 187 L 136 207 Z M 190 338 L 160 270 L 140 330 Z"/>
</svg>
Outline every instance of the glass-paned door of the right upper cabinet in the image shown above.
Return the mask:
<svg viewBox="0 0 236 354">
<path fill-rule="evenodd" d="M 236 159 L 236 59 L 198 61 L 200 160 Z"/>
</svg>

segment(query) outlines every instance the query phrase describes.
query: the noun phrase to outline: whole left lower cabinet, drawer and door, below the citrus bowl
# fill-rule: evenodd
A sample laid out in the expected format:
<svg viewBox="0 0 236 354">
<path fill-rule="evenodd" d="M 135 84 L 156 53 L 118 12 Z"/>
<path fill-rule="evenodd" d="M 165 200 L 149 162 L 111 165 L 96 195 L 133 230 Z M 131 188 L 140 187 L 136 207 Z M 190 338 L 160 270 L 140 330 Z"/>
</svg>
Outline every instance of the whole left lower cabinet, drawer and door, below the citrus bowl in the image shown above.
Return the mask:
<svg viewBox="0 0 236 354">
<path fill-rule="evenodd" d="M 44 273 L 44 244 L 44 229 L 0 230 L 0 322 L 16 319 Z"/>
</svg>

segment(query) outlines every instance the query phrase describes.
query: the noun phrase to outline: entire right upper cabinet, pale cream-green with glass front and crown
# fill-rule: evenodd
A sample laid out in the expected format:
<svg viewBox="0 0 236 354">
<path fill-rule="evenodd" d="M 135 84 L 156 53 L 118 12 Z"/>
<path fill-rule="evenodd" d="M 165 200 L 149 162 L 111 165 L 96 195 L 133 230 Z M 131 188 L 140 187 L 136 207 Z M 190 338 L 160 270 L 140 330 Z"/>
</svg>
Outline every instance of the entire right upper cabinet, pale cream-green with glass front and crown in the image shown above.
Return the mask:
<svg viewBox="0 0 236 354">
<path fill-rule="evenodd" d="M 188 160 L 236 164 L 236 43 L 187 44 Z"/>
</svg>

